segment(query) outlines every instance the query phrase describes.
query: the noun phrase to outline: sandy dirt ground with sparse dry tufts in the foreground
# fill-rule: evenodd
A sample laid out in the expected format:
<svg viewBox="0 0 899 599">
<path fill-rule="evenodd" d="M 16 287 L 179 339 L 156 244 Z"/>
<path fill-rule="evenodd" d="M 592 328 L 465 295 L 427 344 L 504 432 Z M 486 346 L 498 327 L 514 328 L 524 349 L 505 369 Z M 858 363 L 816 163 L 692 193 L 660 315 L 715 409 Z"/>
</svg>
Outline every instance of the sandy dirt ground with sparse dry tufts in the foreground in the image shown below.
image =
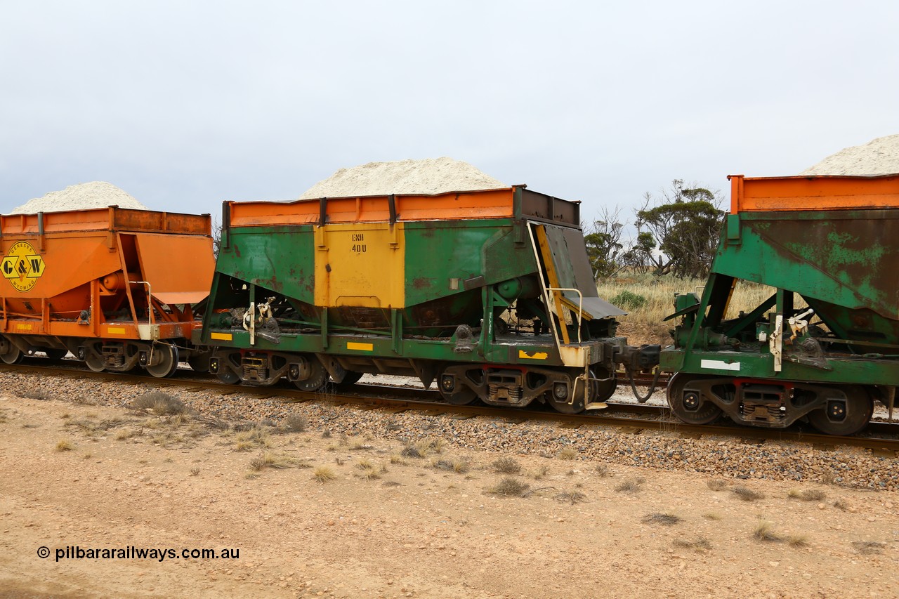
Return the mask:
<svg viewBox="0 0 899 599">
<path fill-rule="evenodd" d="M 318 430 L 254 435 L 11 396 L 0 432 L 0 597 L 899 595 L 893 493 L 714 490 L 690 472 L 512 455 L 530 488 L 498 496 L 498 453 L 404 457 L 399 443 Z M 66 559 L 67 547 L 165 559 Z M 182 557 L 194 549 L 239 555 Z"/>
</svg>

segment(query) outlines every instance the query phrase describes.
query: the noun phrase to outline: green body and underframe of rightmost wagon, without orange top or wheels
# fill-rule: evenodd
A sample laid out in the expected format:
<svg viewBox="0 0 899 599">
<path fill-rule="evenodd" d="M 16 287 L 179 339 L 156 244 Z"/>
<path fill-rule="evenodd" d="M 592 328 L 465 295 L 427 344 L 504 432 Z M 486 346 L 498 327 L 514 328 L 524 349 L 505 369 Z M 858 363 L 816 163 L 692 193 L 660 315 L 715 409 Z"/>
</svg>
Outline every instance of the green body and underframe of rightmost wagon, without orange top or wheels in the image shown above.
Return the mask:
<svg viewBox="0 0 899 599">
<path fill-rule="evenodd" d="M 699 304 L 681 301 L 666 371 L 895 386 L 899 383 L 899 210 L 746 212 L 727 217 L 712 274 Z M 725 320 L 736 282 L 776 288 L 749 316 Z M 780 371 L 767 339 L 774 315 L 814 308 L 832 336 L 806 329 L 785 340 Z M 769 312 L 769 315 L 765 315 Z M 761 337 L 760 337 L 761 335 Z M 761 341 L 760 341 L 761 338 Z"/>
</svg>

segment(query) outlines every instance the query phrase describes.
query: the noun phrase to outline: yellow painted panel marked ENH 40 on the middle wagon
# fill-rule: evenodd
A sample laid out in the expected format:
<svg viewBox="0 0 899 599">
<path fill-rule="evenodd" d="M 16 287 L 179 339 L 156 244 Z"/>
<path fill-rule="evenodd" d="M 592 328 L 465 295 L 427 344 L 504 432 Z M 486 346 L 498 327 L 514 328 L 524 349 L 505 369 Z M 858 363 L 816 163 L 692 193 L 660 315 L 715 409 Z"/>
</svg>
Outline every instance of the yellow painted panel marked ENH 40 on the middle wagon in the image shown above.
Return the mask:
<svg viewBox="0 0 899 599">
<path fill-rule="evenodd" d="M 405 307 L 403 223 L 325 225 L 316 230 L 316 306 Z"/>
</svg>

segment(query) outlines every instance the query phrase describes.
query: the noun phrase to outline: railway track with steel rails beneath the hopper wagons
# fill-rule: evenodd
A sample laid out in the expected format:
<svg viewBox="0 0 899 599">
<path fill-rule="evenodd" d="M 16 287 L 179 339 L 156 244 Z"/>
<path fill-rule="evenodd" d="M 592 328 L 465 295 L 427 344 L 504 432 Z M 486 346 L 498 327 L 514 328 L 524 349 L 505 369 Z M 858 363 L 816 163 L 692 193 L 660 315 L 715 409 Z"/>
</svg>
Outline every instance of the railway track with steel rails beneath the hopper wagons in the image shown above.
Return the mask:
<svg viewBox="0 0 899 599">
<path fill-rule="evenodd" d="M 178 371 L 174 377 L 158 379 L 147 374 L 120 372 L 93 372 L 76 366 L 77 362 L 43 365 L 42 359 L 29 360 L 20 364 L 0 363 L 0 371 L 34 372 L 41 376 L 61 376 L 78 379 L 114 380 L 143 387 L 164 389 L 181 387 L 191 390 L 212 390 L 222 394 L 244 393 L 260 398 L 281 398 L 285 401 L 329 401 L 370 409 L 388 409 L 394 412 L 419 410 L 432 415 L 456 417 L 489 416 L 504 418 L 512 422 L 542 420 L 560 423 L 568 428 L 580 426 L 605 426 L 619 430 L 622 434 L 641 434 L 644 431 L 664 431 L 699 438 L 703 435 L 738 437 L 745 443 L 765 441 L 812 443 L 816 448 L 827 450 L 836 446 L 867 448 L 885 457 L 899 457 L 899 423 L 872 422 L 861 434 L 849 437 L 818 434 L 801 427 L 788 429 L 764 429 L 740 426 L 733 423 L 719 425 L 687 425 L 681 423 L 667 407 L 647 404 L 609 403 L 609 408 L 584 414 L 566 415 L 552 408 L 514 409 L 490 406 L 452 406 L 441 401 L 440 393 L 428 389 L 395 387 L 371 384 L 356 384 L 346 389 L 336 389 L 327 393 L 310 393 L 288 386 L 249 387 L 227 385 L 210 375 L 201 376 L 192 371 Z M 622 380 L 623 382 L 623 380 Z M 650 380 L 637 380 L 636 384 L 648 385 Z"/>
</svg>

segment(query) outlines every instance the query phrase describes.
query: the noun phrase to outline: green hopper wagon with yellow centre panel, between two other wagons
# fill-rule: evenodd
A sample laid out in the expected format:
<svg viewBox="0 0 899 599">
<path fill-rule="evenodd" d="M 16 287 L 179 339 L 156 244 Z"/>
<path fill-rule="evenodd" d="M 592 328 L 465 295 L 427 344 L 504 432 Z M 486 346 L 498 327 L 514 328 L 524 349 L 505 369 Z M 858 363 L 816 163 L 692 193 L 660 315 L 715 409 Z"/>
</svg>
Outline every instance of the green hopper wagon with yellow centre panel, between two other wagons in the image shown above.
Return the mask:
<svg viewBox="0 0 899 599">
<path fill-rule="evenodd" d="M 226 202 L 223 222 L 196 339 L 222 380 L 316 390 L 394 374 L 454 404 L 581 411 L 631 355 L 576 202 L 524 186 Z"/>
</svg>

